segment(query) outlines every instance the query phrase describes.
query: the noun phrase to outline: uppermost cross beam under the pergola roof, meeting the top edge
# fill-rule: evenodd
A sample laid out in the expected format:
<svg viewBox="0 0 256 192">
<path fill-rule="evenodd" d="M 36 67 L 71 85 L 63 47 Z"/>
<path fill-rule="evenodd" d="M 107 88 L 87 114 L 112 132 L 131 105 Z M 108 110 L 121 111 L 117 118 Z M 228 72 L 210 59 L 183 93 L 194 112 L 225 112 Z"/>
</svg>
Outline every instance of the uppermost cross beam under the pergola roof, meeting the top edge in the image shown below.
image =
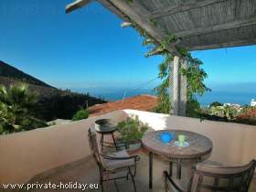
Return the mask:
<svg viewBox="0 0 256 192">
<path fill-rule="evenodd" d="M 156 10 L 148 16 L 152 19 L 155 19 L 155 18 L 159 18 L 159 17 L 162 17 L 162 16 L 170 16 L 170 15 L 176 14 L 178 12 L 189 11 L 190 9 L 198 8 L 198 7 L 201 7 L 201 6 L 223 3 L 224 1 L 227 1 L 227 0 L 203 0 L 203 1 L 193 0 L 193 1 L 187 1 L 187 2 L 182 3 L 180 5 L 170 6 L 170 7 L 166 7 L 165 9 Z"/>
</svg>

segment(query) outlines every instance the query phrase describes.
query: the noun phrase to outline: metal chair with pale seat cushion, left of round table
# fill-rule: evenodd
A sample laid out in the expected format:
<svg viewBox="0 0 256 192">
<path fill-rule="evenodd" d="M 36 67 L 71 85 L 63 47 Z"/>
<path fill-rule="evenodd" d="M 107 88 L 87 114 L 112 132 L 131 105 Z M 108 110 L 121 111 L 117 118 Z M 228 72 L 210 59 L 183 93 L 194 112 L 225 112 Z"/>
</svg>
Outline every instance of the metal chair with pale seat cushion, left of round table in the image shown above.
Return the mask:
<svg viewBox="0 0 256 192">
<path fill-rule="evenodd" d="M 116 179 L 126 178 L 128 180 L 129 176 L 131 176 L 133 188 L 136 192 L 134 176 L 136 175 L 137 161 L 139 161 L 140 157 L 138 155 L 128 155 L 126 150 L 102 154 L 101 141 L 96 133 L 91 132 L 91 129 L 89 129 L 88 137 L 91 153 L 99 167 L 101 191 L 104 191 L 103 182 L 107 182 L 108 184 L 111 180 L 114 181 L 116 190 L 119 191 Z"/>
</svg>

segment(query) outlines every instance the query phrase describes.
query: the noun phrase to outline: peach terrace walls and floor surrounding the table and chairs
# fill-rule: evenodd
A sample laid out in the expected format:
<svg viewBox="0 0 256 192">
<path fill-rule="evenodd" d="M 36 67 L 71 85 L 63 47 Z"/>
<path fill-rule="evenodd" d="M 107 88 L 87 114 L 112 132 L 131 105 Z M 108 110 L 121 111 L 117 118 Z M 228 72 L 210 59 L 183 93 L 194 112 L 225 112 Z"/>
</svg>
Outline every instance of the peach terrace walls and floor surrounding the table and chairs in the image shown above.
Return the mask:
<svg viewBox="0 0 256 192">
<path fill-rule="evenodd" d="M 5 158 L 0 159 L 0 183 L 38 182 L 44 184 L 48 181 L 51 183 L 61 181 L 63 183 L 98 184 L 98 167 L 91 156 L 88 145 L 88 129 L 99 118 L 112 118 L 119 122 L 131 115 L 138 115 L 140 121 L 148 123 L 151 128 L 149 131 L 180 129 L 207 136 L 213 142 L 210 161 L 218 161 L 222 165 L 240 165 L 256 158 L 255 126 L 124 110 L 107 113 L 100 117 L 91 117 L 80 122 L 1 136 L 1 156 Z M 168 169 L 168 162 L 155 156 L 154 187 L 149 190 L 148 156 L 144 150 L 136 152 L 136 155 L 142 157 L 135 177 L 138 191 L 164 191 L 163 171 Z M 184 181 L 190 176 L 190 166 L 183 166 L 182 179 Z M 132 182 L 127 182 L 125 179 L 119 180 L 117 185 L 123 192 L 133 189 Z M 109 182 L 109 191 L 115 191 L 112 182 Z M 255 176 L 251 183 L 250 192 L 252 191 L 256 191 Z"/>
</svg>

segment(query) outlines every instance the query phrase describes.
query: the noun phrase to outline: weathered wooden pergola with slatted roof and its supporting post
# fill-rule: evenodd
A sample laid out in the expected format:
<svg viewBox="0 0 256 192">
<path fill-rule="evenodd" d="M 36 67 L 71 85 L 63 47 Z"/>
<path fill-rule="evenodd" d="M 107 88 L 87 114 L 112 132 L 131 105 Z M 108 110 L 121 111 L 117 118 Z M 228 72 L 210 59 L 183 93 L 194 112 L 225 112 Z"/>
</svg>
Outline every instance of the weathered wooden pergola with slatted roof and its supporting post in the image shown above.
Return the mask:
<svg viewBox="0 0 256 192">
<path fill-rule="evenodd" d="M 69 13 L 92 0 L 67 5 Z M 176 46 L 187 50 L 231 48 L 256 44 L 256 0 L 98 0 L 128 25 L 133 19 L 161 43 L 167 34 L 178 40 L 167 49 L 176 57 L 171 65 L 173 113 L 185 115 L 187 80 L 178 69 L 186 63 Z M 129 19 L 128 19 L 129 18 Z M 126 22 L 126 23 L 125 23 Z M 156 23 L 156 25 L 153 25 Z"/>
</svg>

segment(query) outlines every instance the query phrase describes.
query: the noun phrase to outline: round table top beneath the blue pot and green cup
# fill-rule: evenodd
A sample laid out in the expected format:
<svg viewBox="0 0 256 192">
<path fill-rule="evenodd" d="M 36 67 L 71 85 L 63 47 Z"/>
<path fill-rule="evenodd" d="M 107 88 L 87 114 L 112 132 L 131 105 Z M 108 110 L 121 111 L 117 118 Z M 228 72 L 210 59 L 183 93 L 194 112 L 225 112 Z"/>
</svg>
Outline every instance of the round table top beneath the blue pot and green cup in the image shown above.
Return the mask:
<svg viewBox="0 0 256 192">
<path fill-rule="evenodd" d="M 168 144 L 164 144 L 160 139 L 161 134 L 165 132 L 174 133 L 174 139 Z M 186 135 L 186 142 L 190 144 L 189 146 L 178 147 L 175 145 L 179 134 Z M 199 133 L 183 130 L 161 130 L 145 133 L 142 143 L 144 148 L 154 154 L 178 159 L 198 158 L 203 155 L 208 155 L 213 146 L 208 137 Z"/>
</svg>

